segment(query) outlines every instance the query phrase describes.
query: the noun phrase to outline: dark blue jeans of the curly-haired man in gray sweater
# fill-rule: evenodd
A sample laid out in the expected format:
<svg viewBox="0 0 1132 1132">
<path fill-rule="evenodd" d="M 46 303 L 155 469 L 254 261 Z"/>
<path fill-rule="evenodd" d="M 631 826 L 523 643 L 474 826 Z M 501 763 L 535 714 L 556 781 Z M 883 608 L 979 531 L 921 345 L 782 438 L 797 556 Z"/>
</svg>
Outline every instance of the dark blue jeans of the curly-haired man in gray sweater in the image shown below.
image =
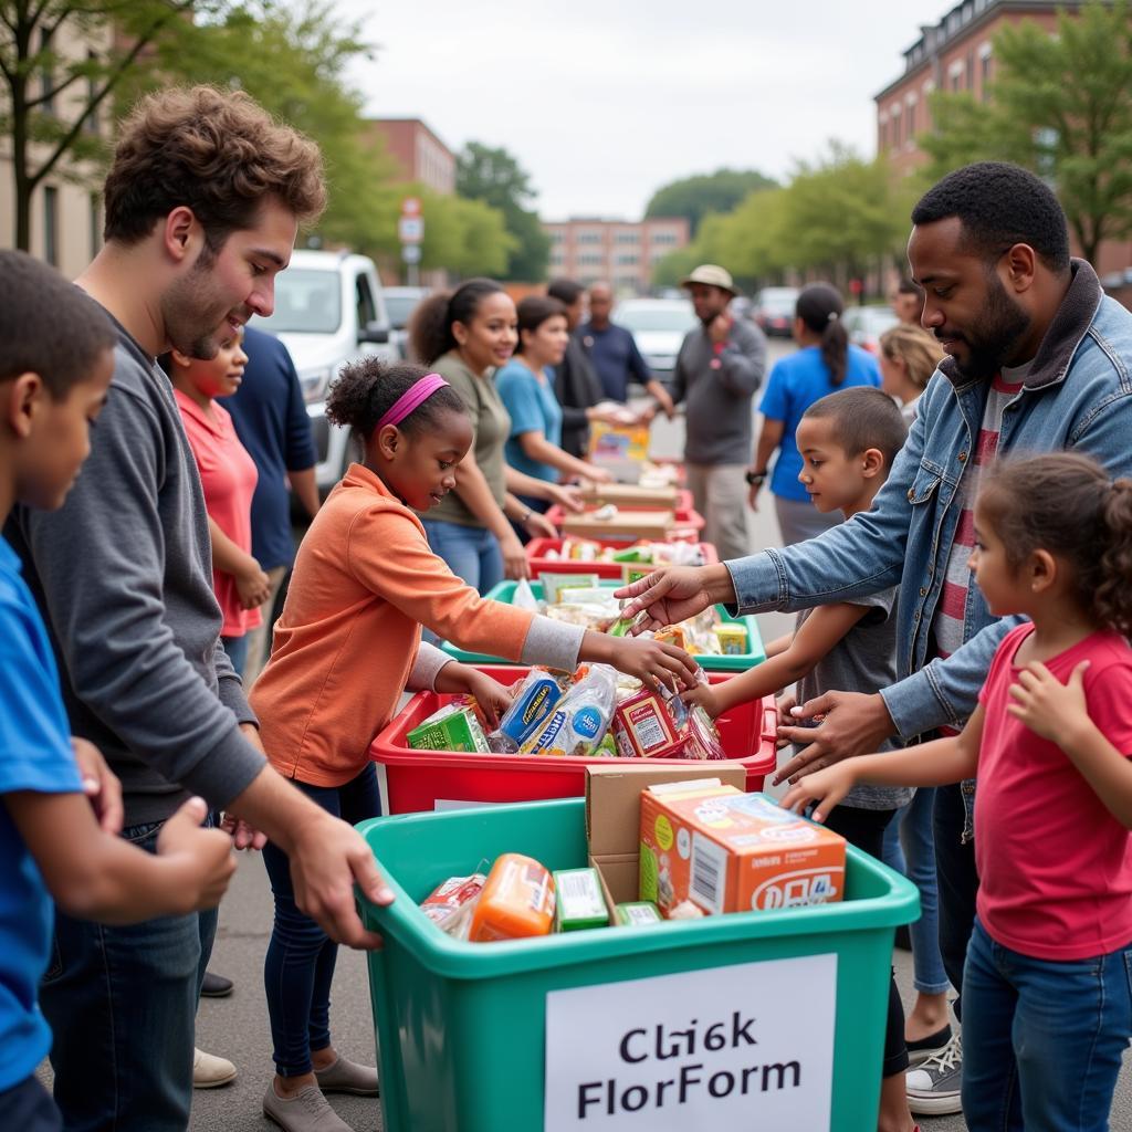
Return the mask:
<svg viewBox="0 0 1132 1132">
<path fill-rule="evenodd" d="M 163 823 L 122 837 L 153 852 Z M 55 912 L 40 1004 L 67 1132 L 185 1132 L 194 1020 L 216 910 L 108 927 Z"/>
</svg>

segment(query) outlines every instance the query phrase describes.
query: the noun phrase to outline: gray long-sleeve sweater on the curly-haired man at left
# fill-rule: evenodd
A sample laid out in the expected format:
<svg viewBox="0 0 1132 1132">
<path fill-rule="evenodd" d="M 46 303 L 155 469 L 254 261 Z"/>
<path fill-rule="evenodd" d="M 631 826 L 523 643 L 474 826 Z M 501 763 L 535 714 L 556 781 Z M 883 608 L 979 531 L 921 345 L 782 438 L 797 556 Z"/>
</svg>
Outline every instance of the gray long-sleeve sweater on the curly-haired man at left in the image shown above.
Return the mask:
<svg viewBox="0 0 1132 1132">
<path fill-rule="evenodd" d="M 191 794 L 220 808 L 263 770 L 220 644 L 204 494 L 169 379 L 119 327 L 91 456 L 57 512 L 6 534 L 48 623 L 71 731 L 122 780 L 126 825 Z"/>
</svg>

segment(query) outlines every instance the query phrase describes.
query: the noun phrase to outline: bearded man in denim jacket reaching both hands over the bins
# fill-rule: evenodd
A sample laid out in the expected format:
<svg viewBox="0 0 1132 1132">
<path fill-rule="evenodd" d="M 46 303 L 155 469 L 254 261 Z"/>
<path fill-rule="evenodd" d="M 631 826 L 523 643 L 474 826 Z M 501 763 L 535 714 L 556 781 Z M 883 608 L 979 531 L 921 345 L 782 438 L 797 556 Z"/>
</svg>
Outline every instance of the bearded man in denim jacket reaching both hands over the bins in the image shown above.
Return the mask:
<svg viewBox="0 0 1132 1132">
<path fill-rule="evenodd" d="M 808 746 L 778 781 L 873 751 L 891 735 L 912 740 L 959 728 L 974 710 L 990 658 L 1018 619 L 995 620 L 977 586 L 964 594 L 952 584 L 946 616 L 957 648 L 945 659 L 936 635 L 949 565 L 951 583 L 959 576 L 953 551 L 964 505 L 974 500 L 976 465 L 994 454 L 995 439 L 998 453 L 1074 449 L 1114 477 L 1132 475 L 1132 315 L 1104 295 L 1087 263 L 1070 260 L 1065 217 L 1049 189 L 1017 166 L 983 162 L 931 189 L 912 223 L 908 258 L 926 292 L 923 323 L 949 357 L 872 511 L 784 550 L 660 571 L 623 591 L 636 599 L 627 616 L 648 610 L 644 628 L 713 602 L 741 612 L 792 611 L 899 584 L 898 681 L 878 695 L 830 691 L 804 704 L 801 717 L 824 721 L 816 731 L 780 728 L 783 738 Z M 1021 384 L 1002 398 L 988 431 L 988 409 L 1001 389 L 1009 392 L 1007 376 Z M 955 987 L 978 886 L 974 801 L 974 782 L 936 792 L 940 942 Z M 958 1112 L 953 1040 L 947 1056 L 926 1063 L 923 1104 L 909 1081 L 914 1110 Z"/>
</svg>

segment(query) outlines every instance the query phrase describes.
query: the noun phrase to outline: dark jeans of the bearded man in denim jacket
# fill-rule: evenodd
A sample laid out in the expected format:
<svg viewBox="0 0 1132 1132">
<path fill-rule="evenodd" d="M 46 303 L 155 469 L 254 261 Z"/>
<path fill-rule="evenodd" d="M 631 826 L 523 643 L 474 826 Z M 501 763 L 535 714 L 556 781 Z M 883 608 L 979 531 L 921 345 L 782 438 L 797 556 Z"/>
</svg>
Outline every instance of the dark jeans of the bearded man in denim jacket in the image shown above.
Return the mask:
<svg viewBox="0 0 1132 1132">
<path fill-rule="evenodd" d="M 962 842 L 964 821 L 962 787 L 936 787 L 933 826 L 940 891 L 940 954 L 943 957 L 943 969 L 957 989 L 963 985 L 963 963 L 975 926 L 975 898 L 979 891 L 975 842 Z M 954 1003 L 955 1018 L 960 1020 L 961 997 Z"/>
</svg>

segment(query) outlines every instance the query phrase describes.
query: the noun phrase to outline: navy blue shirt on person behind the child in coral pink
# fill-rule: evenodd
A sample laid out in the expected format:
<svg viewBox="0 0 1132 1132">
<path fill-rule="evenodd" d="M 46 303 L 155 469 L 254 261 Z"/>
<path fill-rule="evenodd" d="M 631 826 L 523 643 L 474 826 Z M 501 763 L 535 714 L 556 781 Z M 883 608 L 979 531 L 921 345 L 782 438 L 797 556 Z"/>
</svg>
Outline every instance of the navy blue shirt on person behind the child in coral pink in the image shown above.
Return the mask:
<svg viewBox="0 0 1132 1132">
<path fill-rule="evenodd" d="M 251 497 L 251 554 L 264 569 L 273 569 L 294 561 L 286 473 L 314 468 L 318 454 L 286 346 L 249 326 L 243 352 L 243 381 L 221 404 L 232 414 L 235 435 L 259 472 Z"/>
</svg>

